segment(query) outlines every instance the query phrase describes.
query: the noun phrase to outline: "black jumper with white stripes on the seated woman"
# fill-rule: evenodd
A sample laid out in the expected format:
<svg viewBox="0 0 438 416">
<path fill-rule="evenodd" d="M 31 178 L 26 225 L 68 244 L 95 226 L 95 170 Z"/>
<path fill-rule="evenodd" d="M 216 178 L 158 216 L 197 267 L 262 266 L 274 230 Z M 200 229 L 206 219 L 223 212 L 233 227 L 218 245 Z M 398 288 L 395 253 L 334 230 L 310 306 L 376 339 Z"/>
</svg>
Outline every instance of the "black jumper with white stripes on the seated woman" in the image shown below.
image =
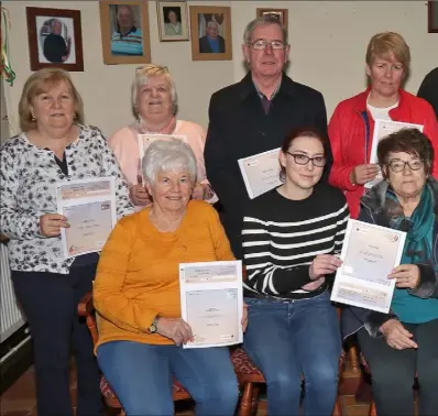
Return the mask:
<svg viewBox="0 0 438 416">
<path fill-rule="evenodd" d="M 244 287 L 262 295 L 305 298 L 308 269 L 318 254 L 339 254 L 349 218 L 344 195 L 317 185 L 305 200 L 289 200 L 276 189 L 254 199 L 243 219 L 248 278 Z"/>
</svg>

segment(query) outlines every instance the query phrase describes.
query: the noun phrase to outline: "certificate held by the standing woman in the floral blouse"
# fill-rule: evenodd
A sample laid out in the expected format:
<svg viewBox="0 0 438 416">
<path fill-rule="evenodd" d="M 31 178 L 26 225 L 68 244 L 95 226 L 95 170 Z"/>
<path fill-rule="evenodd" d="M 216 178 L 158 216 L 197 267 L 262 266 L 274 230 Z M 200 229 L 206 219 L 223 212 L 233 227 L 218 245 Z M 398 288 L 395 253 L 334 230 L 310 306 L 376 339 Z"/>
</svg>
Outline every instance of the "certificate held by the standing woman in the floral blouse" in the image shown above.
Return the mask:
<svg viewBox="0 0 438 416">
<path fill-rule="evenodd" d="M 114 178 L 58 182 L 56 199 L 70 225 L 61 229 L 64 258 L 100 251 L 117 222 Z"/>
</svg>

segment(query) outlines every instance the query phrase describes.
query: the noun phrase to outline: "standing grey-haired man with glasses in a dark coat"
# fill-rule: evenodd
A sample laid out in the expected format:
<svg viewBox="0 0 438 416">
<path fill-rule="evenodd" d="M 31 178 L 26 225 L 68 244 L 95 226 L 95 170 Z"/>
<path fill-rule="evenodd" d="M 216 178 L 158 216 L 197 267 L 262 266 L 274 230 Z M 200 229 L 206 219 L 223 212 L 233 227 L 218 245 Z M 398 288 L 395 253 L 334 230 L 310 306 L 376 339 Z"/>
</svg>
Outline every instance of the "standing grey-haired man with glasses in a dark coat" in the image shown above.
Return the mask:
<svg viewBox="0 0 438 416">
<path fill-rule="evenodd" d="M 283 73 L 289 45 L 282 24 L 271 17 L 255 19 L 243 39 L 250 72 L 211 96 L 205 147 L 207 177 L 219 197 L 222 225 L 237 259 L 242 259 L 240 234 L 250 200 L 238 160 L 280 147 L 294 128 L 313 127 L 327 135 L 322 95 Z M 326 154 L 324 180 L 332 162 L 328 141 Z"/>
</svg>

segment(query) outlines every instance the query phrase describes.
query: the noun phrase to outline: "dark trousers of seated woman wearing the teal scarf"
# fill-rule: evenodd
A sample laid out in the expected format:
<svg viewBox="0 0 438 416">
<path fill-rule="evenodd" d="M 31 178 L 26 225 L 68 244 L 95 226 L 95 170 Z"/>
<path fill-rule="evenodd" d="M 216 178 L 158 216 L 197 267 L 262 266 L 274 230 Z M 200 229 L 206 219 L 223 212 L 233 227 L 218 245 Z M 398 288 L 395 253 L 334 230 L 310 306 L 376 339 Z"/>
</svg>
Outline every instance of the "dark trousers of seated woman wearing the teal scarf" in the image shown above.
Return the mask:
<svg viewBox="0 0 438 416">
<path fill-rule="evenodd" d="M 370 365 L 379 416 L 412 416 L 414 376 L 418 372 L 420 416 L 438 415 L 438 319 L 403 324 L 414 335 L 418 350 L 395 350 L 383 337 L 371 338 L 362 328 L 358 341 Z"/>
</svg>

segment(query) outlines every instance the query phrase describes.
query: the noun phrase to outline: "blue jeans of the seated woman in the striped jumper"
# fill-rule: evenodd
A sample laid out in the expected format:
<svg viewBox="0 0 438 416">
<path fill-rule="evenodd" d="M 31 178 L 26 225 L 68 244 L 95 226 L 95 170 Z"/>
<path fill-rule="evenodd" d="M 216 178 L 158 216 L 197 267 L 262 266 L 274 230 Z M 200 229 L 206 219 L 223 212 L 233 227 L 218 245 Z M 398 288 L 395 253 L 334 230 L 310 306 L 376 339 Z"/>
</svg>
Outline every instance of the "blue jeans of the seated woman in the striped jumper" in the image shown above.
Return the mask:
<svg viewBox="0 0 438 416">
<path fill-rule="evenodd" d="M 341 335 L 329 293 L 295 302 L 245 298 L 245 303 L 243 347 L 266 380 L 267 414 L 298 415 L 304 374 L 305 415 L 331 415 Z"/>
</svg>

